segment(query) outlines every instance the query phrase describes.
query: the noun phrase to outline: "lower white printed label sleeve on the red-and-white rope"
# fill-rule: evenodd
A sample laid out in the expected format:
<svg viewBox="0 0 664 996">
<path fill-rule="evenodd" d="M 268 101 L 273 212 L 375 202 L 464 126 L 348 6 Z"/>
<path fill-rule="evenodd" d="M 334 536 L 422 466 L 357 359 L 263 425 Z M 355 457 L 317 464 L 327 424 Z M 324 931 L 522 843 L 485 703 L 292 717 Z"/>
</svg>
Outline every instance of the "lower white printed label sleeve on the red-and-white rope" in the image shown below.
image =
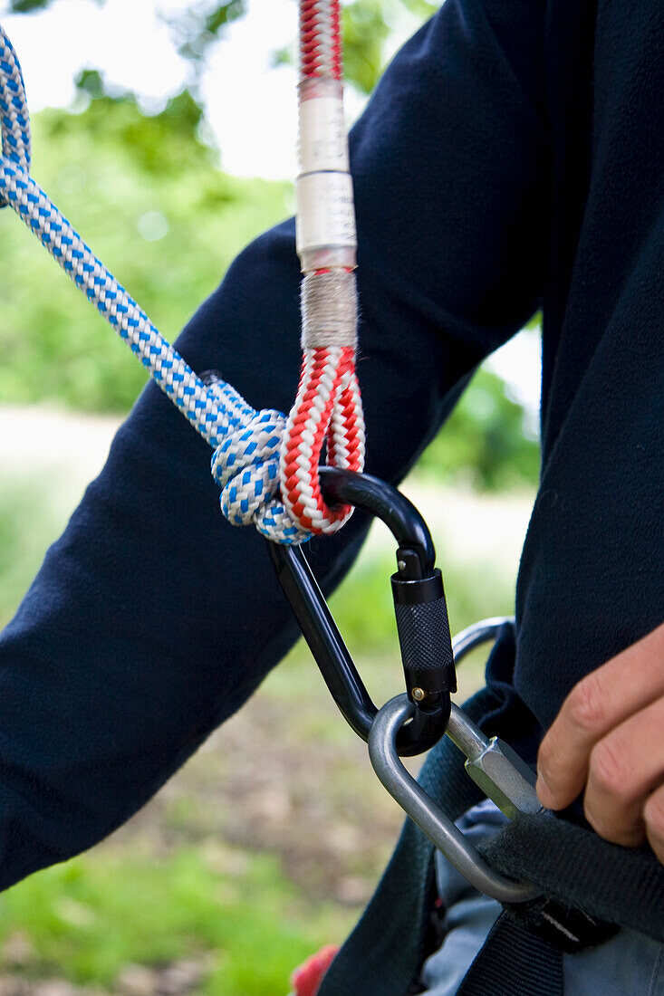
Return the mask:
<svg viewBox="0 0 664 996">
<path fill-rule="evenodd" d="M 350 173 L 298 176 L 295 199 L 298 254 L 323 247 L 357 245 Z"/>
</svg>

